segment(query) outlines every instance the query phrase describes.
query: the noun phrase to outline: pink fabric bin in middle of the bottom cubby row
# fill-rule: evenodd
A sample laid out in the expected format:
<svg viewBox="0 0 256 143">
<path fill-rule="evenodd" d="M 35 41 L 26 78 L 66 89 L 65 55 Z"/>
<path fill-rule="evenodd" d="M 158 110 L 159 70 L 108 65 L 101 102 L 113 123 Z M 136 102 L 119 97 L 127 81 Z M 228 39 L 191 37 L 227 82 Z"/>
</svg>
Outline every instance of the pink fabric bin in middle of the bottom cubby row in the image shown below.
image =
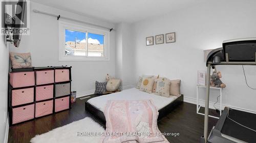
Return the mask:
<svg viewBox="0 0 256 143">
<path fill-rule="evenodd" d="M 49 115 L 53 112 L 53 100 L 35 103 L 35 117 Z"/>
</svg>

